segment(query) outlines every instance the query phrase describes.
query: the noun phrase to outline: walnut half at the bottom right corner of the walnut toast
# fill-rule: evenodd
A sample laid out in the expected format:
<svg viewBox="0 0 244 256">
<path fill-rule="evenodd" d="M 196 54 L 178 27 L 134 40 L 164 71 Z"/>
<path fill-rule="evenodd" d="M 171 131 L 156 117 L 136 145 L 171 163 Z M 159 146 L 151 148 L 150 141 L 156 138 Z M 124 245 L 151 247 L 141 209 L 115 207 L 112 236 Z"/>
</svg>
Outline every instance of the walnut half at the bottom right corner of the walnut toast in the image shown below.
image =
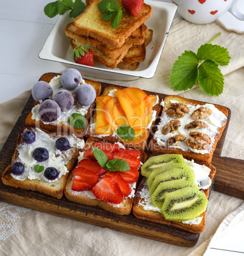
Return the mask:
<svg viewBox="0 0 244 256">
<path fill-rule="evenodd" d="M 208 134 L 203 132 L 190 132 L 191 138 L 188 138 L 186 145 L 196 150 L 205 150 L 211 143 Z"/>
</svg>

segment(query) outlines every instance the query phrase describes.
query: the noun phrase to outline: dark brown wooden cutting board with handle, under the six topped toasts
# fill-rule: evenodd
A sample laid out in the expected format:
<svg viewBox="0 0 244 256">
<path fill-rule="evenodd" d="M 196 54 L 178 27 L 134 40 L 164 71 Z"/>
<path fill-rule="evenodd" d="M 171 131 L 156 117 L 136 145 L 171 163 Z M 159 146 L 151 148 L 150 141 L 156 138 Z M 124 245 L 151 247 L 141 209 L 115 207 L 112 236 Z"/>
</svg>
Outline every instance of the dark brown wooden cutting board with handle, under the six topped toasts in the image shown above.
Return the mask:
<svg viewBox="0 0 244 256">
<path fill-rule="evenodd" d="M 108 83 L 102 83 L 102 88 L 104 89 L 108 85 Z M 165 94 L 159 95 L 162 98 L 166 96 Z M 24 110 L 22 111 L 22 115 L 18 118 L 10 136 L 1 150 L 0 176 L 4 169 L 11 164 L 11 157 L 15 151 L 18 132 L 20 131 L 20 127 L 25 125 L 25 118 L 33 106 L 34 99 L 30 96 Z M 230 117 L 231 111 L 228 111 Z M 222 138 L 217 144 L 212 160 L 212 164 L 217 169 L 214 189 L 219 192 L 244 199 L 244 181 L 238 178 L 241 177 L 241 173 L 243 174 L 244 172 L 244 161 L 220 157 L 226 131 L 227 127 Z M 231 175 L 229 175 L 230 172 Z M 133 213 L 124 216 L 115 215 L 102 210 L 97 206 L 84 206 L 82 204 L 73 203 L 68 201 L 65 197 L 62 199 L 55 199 L 39 192 L 8 187 L 4 185 L 1 180 L 0 201 L 25 208 L 31 208 L 37 211 L 43 211 L 45 213 L 50 213 L 64 218 L 71 218 L 72 220 L 78 220 L 92 225 L 98 225 L 100 227 L 107 227 L 116 231 L 141 236 L 143 238 L 170 243 L 172 245 L 194 246 L 200 237 L 200 234 L 192 234 L 190 232 L 177 229 L 176 227 L 168 227 L 166 225 L 139 220 L 135 218 Z"/>
</svg>

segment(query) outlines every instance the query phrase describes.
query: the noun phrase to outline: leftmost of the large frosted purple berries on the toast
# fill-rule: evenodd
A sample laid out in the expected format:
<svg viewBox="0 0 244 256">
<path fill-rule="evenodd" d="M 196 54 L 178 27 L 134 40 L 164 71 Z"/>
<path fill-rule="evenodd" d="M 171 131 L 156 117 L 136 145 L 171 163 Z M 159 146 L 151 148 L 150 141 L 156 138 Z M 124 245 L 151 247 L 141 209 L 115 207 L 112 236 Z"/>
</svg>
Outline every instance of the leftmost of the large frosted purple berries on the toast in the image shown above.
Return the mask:
<svg viewBox="0 0 244 256">
<path fill-rule="evenodd" d="M 43 101 L 52 96 L 53 89 L 50 84 L 44 81 L 38 81 L 32 87 L 32 97 L 35 101 Z"/>
</svg>

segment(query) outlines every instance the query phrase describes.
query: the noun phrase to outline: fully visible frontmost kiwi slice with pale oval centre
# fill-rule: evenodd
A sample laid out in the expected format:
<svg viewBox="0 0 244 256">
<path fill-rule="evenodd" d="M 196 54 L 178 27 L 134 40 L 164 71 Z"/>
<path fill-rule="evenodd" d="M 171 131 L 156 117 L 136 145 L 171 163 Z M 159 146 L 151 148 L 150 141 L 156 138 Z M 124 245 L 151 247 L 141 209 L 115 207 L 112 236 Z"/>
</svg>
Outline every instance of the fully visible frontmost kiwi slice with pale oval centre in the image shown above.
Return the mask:
<svg viewBox="0 0 244 256">
<path fill-rule="evenodd" d="M 168 193 L 161 208 L 166 220 L 193 220 L 207 209 L 208 199 L 194 187 L 185 187 Z"/>
</svg>

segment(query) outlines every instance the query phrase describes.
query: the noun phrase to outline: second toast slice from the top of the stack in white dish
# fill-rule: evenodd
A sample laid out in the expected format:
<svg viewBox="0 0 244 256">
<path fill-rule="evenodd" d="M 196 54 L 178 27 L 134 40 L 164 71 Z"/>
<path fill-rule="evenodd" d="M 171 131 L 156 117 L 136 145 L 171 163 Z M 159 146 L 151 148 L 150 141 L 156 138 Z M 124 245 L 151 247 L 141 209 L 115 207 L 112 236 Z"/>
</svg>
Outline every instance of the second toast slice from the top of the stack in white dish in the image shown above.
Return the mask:
<svg viewBox="0 0 244 256">
<path fill-rule="evenodd" d="M 140 25 L 138 29 L 132 32 L 132 34 L 125 40 L 125 43 L 132 44 L 132 45 L 141 45 L 144 42 L 144 34 L 147 31 L 147 26 L 145 24 Z M 78 43 L 83 43 L 84 45 L 92 45 L 94 46 L 101 46 L 102 49 L 105 50 L 114 50 L 118 48 L 117 46 L 109 46 L 104 45 L 104 42 L 98 41 L 95 38 L 90 36 L 84 36 L 82 34 L 78 34 L 74 32 L 74 25 L 73 23 L 67 24 L 65 27 L 65 34 L 71 39 L 77 39 Z"/>
</svg>

